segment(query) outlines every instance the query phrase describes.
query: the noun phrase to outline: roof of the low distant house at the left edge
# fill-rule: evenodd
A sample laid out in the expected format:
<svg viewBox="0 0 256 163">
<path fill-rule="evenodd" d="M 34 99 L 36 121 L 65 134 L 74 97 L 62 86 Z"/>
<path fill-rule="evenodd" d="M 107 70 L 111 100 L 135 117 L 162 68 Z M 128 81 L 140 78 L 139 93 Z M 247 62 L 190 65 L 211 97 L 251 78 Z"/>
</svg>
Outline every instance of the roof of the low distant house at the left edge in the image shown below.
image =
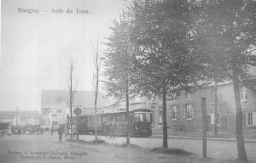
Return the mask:
<svg viewBox="0 0 256 163">
<path fill-rule="evenodd" d="M 0 111 L 0 119 L 14 119 L 15 115 L 19 115 L 20 120 L 35 118 L 38 119 L 40 114 L 38 111 Z"/>
</svg>

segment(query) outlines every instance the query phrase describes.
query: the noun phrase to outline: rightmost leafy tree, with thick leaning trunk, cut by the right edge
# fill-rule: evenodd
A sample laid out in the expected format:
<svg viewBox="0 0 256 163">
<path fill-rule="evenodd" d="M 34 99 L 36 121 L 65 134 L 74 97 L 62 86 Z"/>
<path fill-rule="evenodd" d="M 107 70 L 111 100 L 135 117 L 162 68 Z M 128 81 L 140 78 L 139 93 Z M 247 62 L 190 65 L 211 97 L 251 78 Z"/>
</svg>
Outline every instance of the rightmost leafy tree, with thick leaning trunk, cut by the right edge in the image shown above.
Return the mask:
<svg viewBox="0 0 256 163">
<path fill-rule="evenodd" d="M 251 87 L 248 56 L 256 45 L 256 2 L 253 0 L 195 1 L 195 36 L 201 59 L 210 70 L 233 82 L 236 99 L 238 157 L 247 161 L 242 134 L 241 85 Z M 195 39 L 196 40 L 196 39 Z M 195 41 L 195 42 L 197 42 Z M 196 44 L 196 43 L 195 43 Z M 211 60 L 214 55 L 215 60 Z M 218 62 L 217 62 L 218 61 Z"/>
</svg>

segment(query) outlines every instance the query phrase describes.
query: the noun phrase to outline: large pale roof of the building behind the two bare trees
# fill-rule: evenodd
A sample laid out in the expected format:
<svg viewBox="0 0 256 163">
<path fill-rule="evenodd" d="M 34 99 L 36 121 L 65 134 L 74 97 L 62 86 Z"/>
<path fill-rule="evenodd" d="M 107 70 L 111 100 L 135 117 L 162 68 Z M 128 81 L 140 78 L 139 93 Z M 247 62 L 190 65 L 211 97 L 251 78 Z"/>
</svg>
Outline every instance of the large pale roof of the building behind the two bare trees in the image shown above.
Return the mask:
<svg viewBox="0 0 256 163">
<path fill-rule="evenodd" d="M 41 90 L 41 107 L 52 108 L 55 104 L 69 101 L 69 91 L 66 90 Z M 77 91 L 74 95 L 73 105 L 82 105 L 85 108 L 94 107 L 95 94 L 92 91 Z M 115 100 L 107 98 L 105 93 L 99 92 L 97 107 L 114 104 Z"/>
</svg>

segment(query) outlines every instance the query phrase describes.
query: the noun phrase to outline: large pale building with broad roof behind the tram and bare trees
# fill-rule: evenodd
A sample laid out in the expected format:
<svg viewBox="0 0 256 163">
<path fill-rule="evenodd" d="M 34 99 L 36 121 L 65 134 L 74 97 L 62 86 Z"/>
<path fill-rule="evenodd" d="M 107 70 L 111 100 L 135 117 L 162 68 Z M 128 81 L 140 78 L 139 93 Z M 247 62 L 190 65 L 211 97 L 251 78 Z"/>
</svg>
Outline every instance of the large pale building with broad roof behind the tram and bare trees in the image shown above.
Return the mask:
<svg viewBox="0 0 256 163">
<path fill-rule="evenodd" d="M 102 112 L 103 106 L 114 104 L 111 98 L 105 98 L 104 93 L 98 93 L 97 112 Z M 73 110 L 80 108 L 82 115 L 94 114 L 95 95 L 92 91 L 77 91 L 74 96 Z M 67 123 L 69 110 L 69 92 L 63 90 L 42 90 L 41 91 L 41 116 L 42 123 L 46 128 L 51 125 Z M 74 115 L 73 113 L 73 116 Z"/>
</svg>

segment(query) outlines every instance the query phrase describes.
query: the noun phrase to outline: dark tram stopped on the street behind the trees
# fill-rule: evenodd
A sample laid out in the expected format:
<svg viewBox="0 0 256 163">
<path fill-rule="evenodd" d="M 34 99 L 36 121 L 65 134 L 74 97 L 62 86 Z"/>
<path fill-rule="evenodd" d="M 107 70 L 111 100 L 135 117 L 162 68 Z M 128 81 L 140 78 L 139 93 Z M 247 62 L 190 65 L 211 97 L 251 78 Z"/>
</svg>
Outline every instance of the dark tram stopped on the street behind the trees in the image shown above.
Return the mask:
<svg viewBox="0 0 256 163">
<path fill-rule="evenodd" d="M 130 111 L 130 135 L 131 137 L 152 136 L 152 111 L 138 109 Z M 126 111 L 114 113 L 105 113 L 99 115 L 83 115 L 76 120 L 76 126 L 80 133 L 94 133 L 95 127 L 99 135 L 105 134 L 105 125 L 107 122 L 115 121 L 116 136 L 127 135 L 127 115 Z"/>
</svg>

